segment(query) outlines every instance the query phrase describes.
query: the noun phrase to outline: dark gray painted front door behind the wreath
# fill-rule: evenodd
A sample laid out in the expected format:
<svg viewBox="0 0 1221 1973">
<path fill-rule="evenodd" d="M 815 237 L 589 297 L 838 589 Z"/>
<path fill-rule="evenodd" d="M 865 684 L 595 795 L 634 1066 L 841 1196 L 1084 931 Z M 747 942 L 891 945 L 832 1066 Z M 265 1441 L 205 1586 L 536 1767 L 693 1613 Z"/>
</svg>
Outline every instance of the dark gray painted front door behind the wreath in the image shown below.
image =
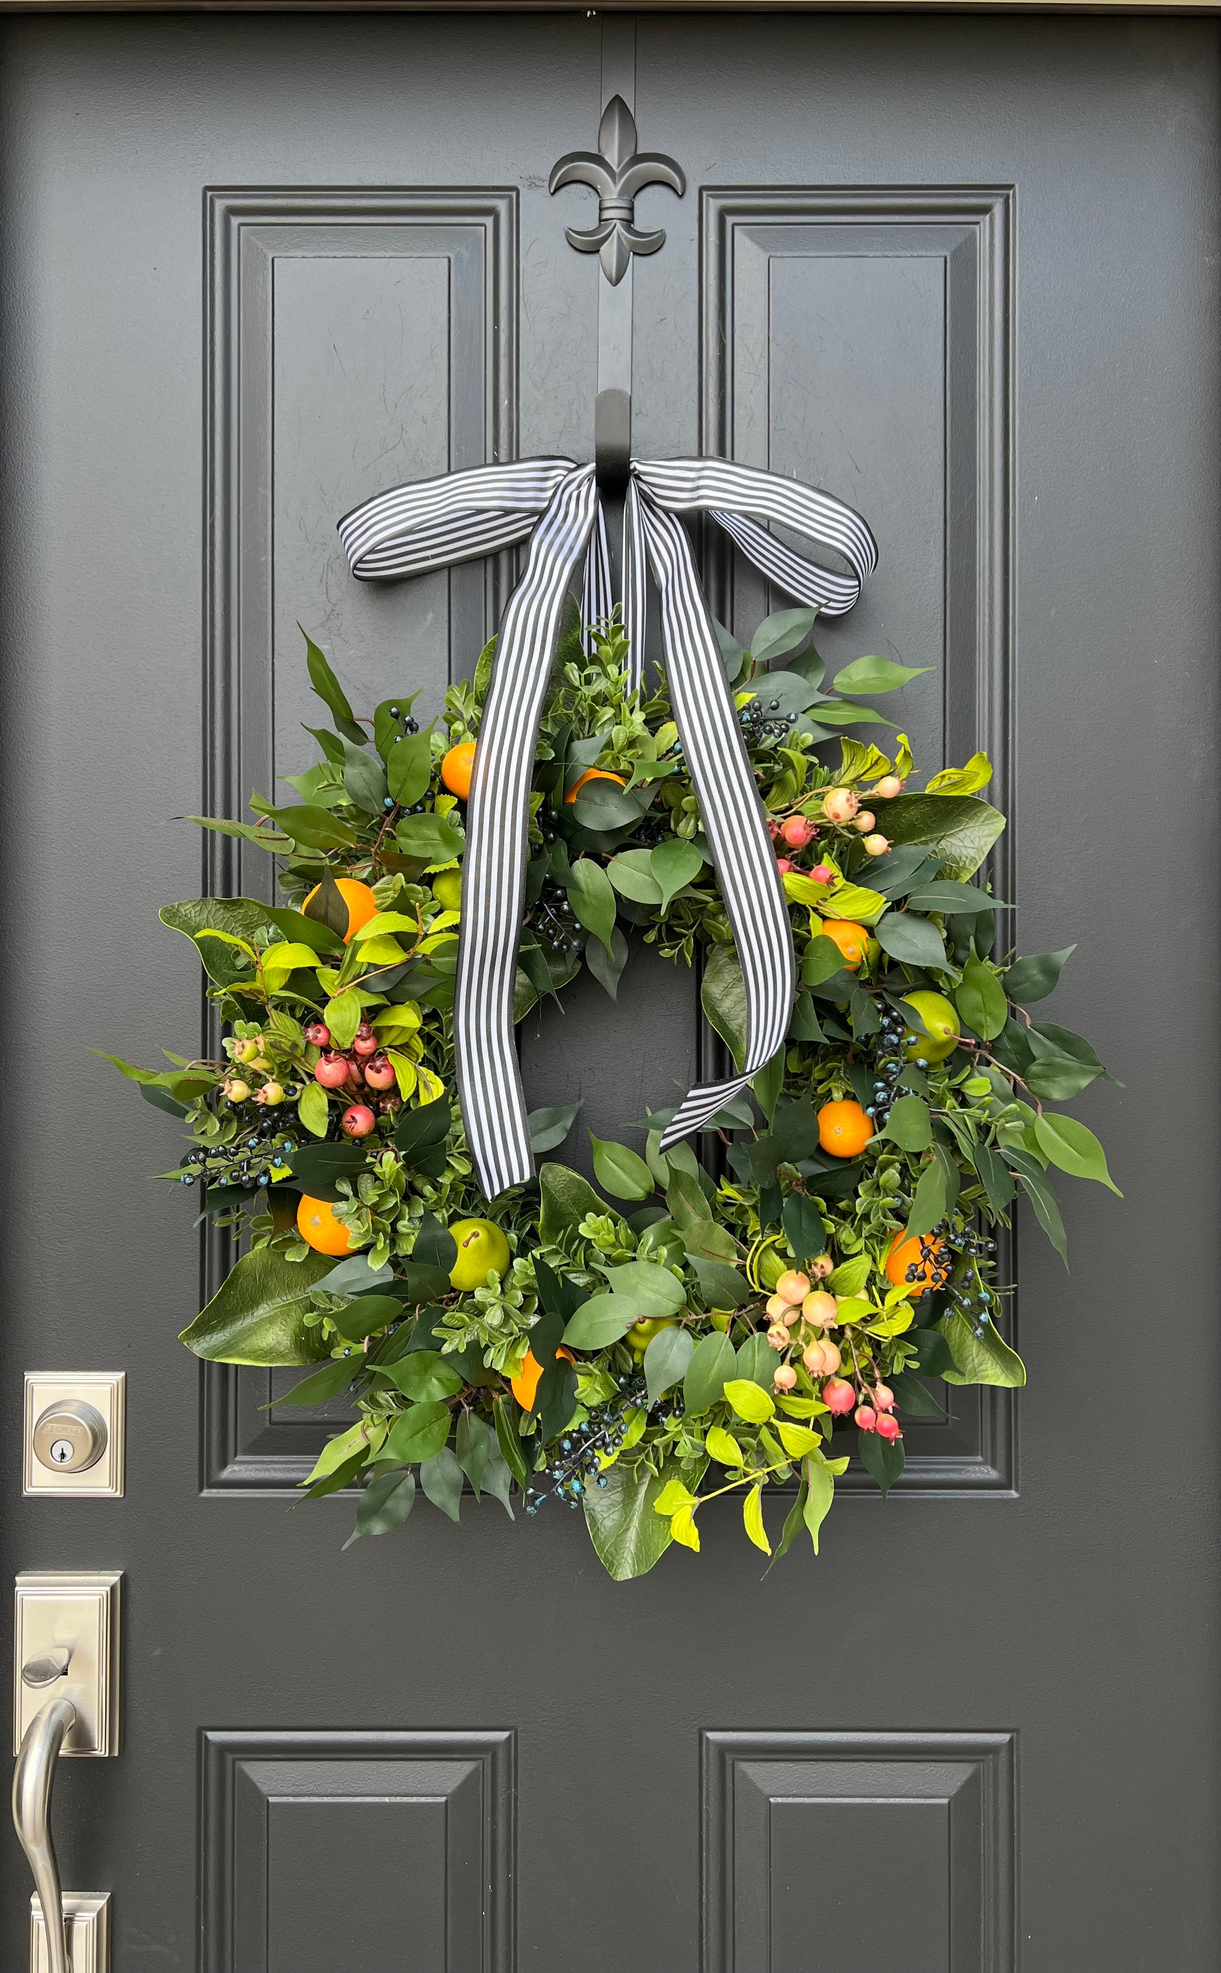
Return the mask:
<svg viewBox="0 0 1221 1973">
<path fill-rule="evenodd" d="M 0 1511 L 10 1569 L 126 1571 L 126 1748 L 55 1807 L 116 1967 L 1213 1969 L 1215 24 L 639 20 L 641 142 L 690 189 L 641 199 L 637 448 L 870 517 L 826 645 L 939 667 L 925 758 L 994 752 L 1024 945 L 1081 941 L 1059 1018 L 1126 1085 L 1085 1105 L 1126 1204 L 1073 1198 L 1071 1279 L 1022 1233 L 1030 1389 L 913 1434 L 817 1567 L 759 1582 L 726 1525 L 623 1588 L 576 1521 L 418 1513 L 341 1555 L 349 1503 L 288 1513 L 323 1423 L 176 1344 L 199 1263 L 144 1178 L 174 1127 L 87 1054 L 193 1036 L 172 817 L 298 764 L 294 621 L 361 704 L 404 655 L 432 698 L 471 665 L 499 578 L 355 588 L 337 515 L 588 456 L 588 195 L 544 185 L 594 140 L 602 22 L 2 37 Z M 742 631 L 767 606 L 708 580 Z M 529 1075 L 613 1134 L 694 1048 L 653 969 Z M 24 1369 L 128 1371 L 122 1501 L 20 1499 Z"/>
</svg>

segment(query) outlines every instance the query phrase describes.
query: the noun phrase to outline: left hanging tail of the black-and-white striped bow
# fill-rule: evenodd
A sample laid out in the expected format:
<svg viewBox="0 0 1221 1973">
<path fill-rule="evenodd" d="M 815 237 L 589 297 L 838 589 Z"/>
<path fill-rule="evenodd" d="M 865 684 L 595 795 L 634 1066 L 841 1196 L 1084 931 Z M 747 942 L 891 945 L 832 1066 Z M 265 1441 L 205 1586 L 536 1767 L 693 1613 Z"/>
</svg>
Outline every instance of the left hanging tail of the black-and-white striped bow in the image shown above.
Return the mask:
<svg viewBox="0 0 1221 1973">
<path fill-rule="evenodd" d="M 454 983 L 462 1119 L 485 1198 L 535 1172 L 513 1046 L 513 983 L 527 870 L 539 718 L 568 584 L 594 525 L 594 468 L 554 493 L 497 639 L 467 805 L 464 910 Z"/>
</svg>

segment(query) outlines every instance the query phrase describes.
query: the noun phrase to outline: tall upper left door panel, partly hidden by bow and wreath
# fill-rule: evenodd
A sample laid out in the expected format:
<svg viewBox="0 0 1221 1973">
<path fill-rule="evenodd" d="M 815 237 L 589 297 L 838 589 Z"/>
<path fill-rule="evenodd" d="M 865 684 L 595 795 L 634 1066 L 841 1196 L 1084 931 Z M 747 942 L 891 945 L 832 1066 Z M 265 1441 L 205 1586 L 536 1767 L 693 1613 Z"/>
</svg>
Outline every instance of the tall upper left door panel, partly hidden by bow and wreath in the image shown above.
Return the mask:
<svg viewBox="0 0 1221 1973">
<path fill-rule="evenodd" d="M 436 653 L 436 669 L 456 675 L 499 620 L 509 556 L 416 584 L 353 584 L 335 523 L 396 477 L 515 456 L 519 195 L 495 185 L 211 187 L 203 233 L 203 809 L 241 817 L 251 787 L 272 795 L 276 773 L 296 767 L 276 760 L 276 728 L 292 724 L 286 706 L 304 669 L 294 618 L 306 616 L 310 604 L 316 620 L 308 627 L 359 651 L 359 663 L 373 673 L 393 663 L 387 653 L 398 651 L 404 625 L 440 616 L 446 649 Z M 335 260 L 343 262 L 341 276 L 327 282 Z M 412 284 L 408 292 L 402 282 Z M 385 379 L 361 375 L 355 387 L 349 383 L 325 314 L 341 316 L 345 308 L 363 353 L 379 347 L 381 333 Z M 408 308 L 416 331 L 410 345 L 400 328 Z M 367 316 L 377 316 L 373 329 Z M 408 369 L 414 391 L 404 408 L 395 391 Z M 329 399 L 331 418 L 343 420 L 345 434 L 351 430 L 351 479 L 335 479 L 335 450 L 312 460 L 310 420 L 296 418 L 298 399 Z M 398 438 L 387 446 L 383 434 L 395 424 Z M 300 590 L 310 578 L 304 564 L 302 572 L 294 564 L 300 543 L 310 570 L 318 570 L 318 594 L 306 602 Z M 278 594 L 288 608 L 284 621 Z M 276 647 L 288 637 L 290 663 L 278 667 Z M 270 866 L 241 840 L 205 833 L 201 888 L 270 902 Z M 203 1054 L 217 1050 L 205 1006 Z M 231 1265 L 229 1237 L 207 1229 L 201 1300 L 215 1294 Z M 260 1411 L 270 1397 L 266 1371 L 201 1365 L 205 1492 L 292 1490 L 310 1470 L 325 1426 L 270 1419 Z"/>
</svg>

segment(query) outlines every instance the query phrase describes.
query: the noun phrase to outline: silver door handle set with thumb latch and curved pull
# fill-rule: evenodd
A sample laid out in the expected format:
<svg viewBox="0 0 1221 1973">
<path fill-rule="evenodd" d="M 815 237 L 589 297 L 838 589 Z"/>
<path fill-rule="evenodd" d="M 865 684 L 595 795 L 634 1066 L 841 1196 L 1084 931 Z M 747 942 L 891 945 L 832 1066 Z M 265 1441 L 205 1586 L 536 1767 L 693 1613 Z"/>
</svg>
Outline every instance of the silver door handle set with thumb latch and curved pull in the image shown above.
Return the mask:
<svg viewBox="0 0 1221 1973">
<path fill-rule="evenodd" d="M 36 1973 L 105 1973 L 107 1920 L 59 1890 L 51 1839 L 51 1786 L 59 1756 L 105 1758 L 120 1744 L 120 1584 L 118 1571 L 26 1574 L 14 1606 L 12 1819 L 34 1872 L 30 1963 Z M 85 1894 L 77 1892 L 77 1900 Z M 97 1894 L 85 1898 L 97 1904 Z M 77 1904 L 77 1910 L 81 1906 Z M 45 1922 L 43 1922 L 45 1914 Z M 77 1949 L 77 1934 L 79 1949 Z M 37 1957 L 41 1951 L 41 1957 Z M 93 1957 L 89 1957 L 93 1955 Z"/>
</svg>

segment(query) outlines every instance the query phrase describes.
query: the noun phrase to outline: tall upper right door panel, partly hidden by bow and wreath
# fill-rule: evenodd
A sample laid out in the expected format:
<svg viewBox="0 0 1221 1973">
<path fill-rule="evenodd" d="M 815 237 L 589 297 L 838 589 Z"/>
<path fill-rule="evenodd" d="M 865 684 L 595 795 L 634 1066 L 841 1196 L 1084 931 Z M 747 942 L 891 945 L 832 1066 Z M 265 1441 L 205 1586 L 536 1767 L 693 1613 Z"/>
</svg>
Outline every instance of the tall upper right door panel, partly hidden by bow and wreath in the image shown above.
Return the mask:
<svg viewBox="0 0 1221 1973">
<path fill-rule="evenodd" d="M 898 633 L 919 647 L 915 659 L 903 653 L 911 663 L 925 661 L 925 653 L 941 657 L 939 675 L 925 681 L 919 710 L 927 736 L 921 748 L 917 732 L 917 758 L 943 752 L 945 760 L 967 760 L 982 748 L 994 764 L 992 799 L 1010 817 L 1014 221 L 1012 185 L 700 191 L 702 450 L 828 483 L 862 507 L 880 535 L 882 560 L 838 635 L 850 639 L 852 653 L 896 649 L 872 639 L 898 623 Z M 826 310 L 834 331 L 811 331 L 819 284 L 836 278 L 842 286 Z M 821 365 L 809 359 L 811 333 L 823 349 Z M 905 383 L 909 424 L 888 395 L 894 375 Z M 854 393 L 850 450 L 838 434 L 838 391 Z M 866 450 L 870 426 L 876 452 Z M 896 475 L 896 448 L 909 450 L 909 474 Z M 874 466 L 882 456 L 888 474 Z M 896 479 L 903 503 L 880 513 L 878 493 Z M 785 606 L 734 556 L 720 529 L 706 529 L 704 554 L 712 606 L 732 625 L 738 606 L 738 633 Z M 911 596 L 923 618 L 903 614 L 911 612 Z M 826 637 L 832 641 L 836 627 Z M 992 870 L 998 896 L 1014 902 L 1012 823 Z M 1016 1280 L 1012 1237 L 998 1259 L 1000 1279 Z M 1016 1342 L 1014 1296 L 1004 1334 Z M 1012 1393 L 972 1387 L 943 1397 L 953 1423 L 907 1426 L 899 1488 L 1012 1496 Z M 842 1492 L 872 1486 L 856 1464 L 840 1482 Z"/>
</svg>

